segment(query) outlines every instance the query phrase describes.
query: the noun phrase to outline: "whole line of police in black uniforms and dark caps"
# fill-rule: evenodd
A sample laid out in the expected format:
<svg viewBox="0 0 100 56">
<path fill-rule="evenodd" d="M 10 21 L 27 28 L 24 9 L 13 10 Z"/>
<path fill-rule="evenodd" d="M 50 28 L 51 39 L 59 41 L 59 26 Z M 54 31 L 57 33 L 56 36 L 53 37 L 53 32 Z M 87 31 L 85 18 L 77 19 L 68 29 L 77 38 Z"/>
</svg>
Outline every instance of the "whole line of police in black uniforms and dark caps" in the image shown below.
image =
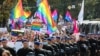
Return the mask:
<svg viewBox="0 0 100 56">
<path fill-rule="evenodd" d="M 23 36 L 22 36 L 23 37 Z M 44 38 L 35 38 L 33 47 L 28 46 L 28 39 L 18 39 L 16 42 L 22 42 L 23 47 L 15 51 L 15 48 L 7 46 L 7 39 L 0 40 L 0 56 L 4 50 L 8 50 L 12 56 L 99 56 L 100 55 L 100 35 L 99 34 L 80 34 L 76 42 L 71 35 L 49 36 Z"/>
</svg>

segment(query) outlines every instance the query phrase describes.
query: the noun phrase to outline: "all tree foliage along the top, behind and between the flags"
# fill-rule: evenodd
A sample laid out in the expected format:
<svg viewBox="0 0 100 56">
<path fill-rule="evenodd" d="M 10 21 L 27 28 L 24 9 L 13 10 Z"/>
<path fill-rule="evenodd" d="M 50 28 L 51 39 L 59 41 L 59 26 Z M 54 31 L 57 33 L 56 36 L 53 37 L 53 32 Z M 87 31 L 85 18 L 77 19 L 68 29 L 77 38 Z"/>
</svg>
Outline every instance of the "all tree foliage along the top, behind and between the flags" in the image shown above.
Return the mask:
<svg viewBox="0 0 100 56">
<path fill-rule="evenodd" d="M 0 21 L 2 19 L 8 19 L 11 9 L 16 5 L 18 0 L 0 0 Z M 34 12 L 37 10 L 36 0 L 22 0 L 24 10 L 31 10 Z M 77 18 L 80 11 L 80 3 L 82 0 L 48 0 L 51 10 L 57 9 L 59 14 L 65 15 L 68 6 L 75 5 L 75 8 L 71 8 L 71 14 L 73 18 Z M 85 0 L 85 18 L 95 19 L 100 18 L 100 0 Z"/>
</svg>

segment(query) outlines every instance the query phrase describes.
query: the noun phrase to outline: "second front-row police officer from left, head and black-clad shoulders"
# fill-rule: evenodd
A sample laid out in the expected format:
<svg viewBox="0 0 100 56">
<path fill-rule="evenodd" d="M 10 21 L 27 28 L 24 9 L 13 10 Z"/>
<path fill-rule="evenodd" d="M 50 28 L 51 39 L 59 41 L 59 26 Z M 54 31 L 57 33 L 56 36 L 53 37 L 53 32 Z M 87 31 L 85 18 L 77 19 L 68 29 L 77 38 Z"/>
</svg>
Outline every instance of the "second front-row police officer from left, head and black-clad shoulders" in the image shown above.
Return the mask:
<svg viewBox="0 0 100 56">
<path fill-rule="evenodd" d="M 18 55 L 18 56 L 27 56 L 27 54 L 28 54 L 29 52 L 32 52 L 32 50 L 28 48 L 28 40 L 24 39 L 24 40 L 22 41 L 22 43 L 23 43 L 23 48 L 20 48 L 20 49 L 17 51 L 17 55 Z"/>
</svg>

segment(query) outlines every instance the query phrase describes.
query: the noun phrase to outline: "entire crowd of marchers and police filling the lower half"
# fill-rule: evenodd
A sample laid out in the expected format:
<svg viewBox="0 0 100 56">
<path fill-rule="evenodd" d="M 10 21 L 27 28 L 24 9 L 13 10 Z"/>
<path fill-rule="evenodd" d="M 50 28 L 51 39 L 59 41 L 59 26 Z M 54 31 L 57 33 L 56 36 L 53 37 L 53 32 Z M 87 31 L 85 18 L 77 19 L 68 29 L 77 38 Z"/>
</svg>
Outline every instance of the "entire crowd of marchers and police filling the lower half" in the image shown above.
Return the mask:
<svg viewBox="0 0 100 56">
<path fill-rule="evenodd" d="M 73 33 L 34 34 L 25 32 L 12 36 L 0 33 L 0 56 L 100 56 L 100 35 Z"/>
</svg>

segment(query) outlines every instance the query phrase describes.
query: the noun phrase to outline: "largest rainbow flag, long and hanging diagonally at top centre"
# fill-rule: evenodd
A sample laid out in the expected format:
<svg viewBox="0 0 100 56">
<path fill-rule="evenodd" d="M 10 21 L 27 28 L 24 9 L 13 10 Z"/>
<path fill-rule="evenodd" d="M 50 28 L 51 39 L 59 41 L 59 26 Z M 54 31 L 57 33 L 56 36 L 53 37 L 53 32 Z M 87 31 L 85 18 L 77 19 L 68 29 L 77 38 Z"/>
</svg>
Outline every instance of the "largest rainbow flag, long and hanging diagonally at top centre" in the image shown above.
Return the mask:
<svg viewBox="0 0 100 56">
<path fill-rule="evenodd" d="M 56 23 L 52 19 L 50 7 L 48 5 L 47 0 L 41 1 L 37 12 L 42 15 L 40 19 L 47 25 L 48 31 L 50 30 L 50 33 L 54 32 L 57 27 Z"/>
</svg>

